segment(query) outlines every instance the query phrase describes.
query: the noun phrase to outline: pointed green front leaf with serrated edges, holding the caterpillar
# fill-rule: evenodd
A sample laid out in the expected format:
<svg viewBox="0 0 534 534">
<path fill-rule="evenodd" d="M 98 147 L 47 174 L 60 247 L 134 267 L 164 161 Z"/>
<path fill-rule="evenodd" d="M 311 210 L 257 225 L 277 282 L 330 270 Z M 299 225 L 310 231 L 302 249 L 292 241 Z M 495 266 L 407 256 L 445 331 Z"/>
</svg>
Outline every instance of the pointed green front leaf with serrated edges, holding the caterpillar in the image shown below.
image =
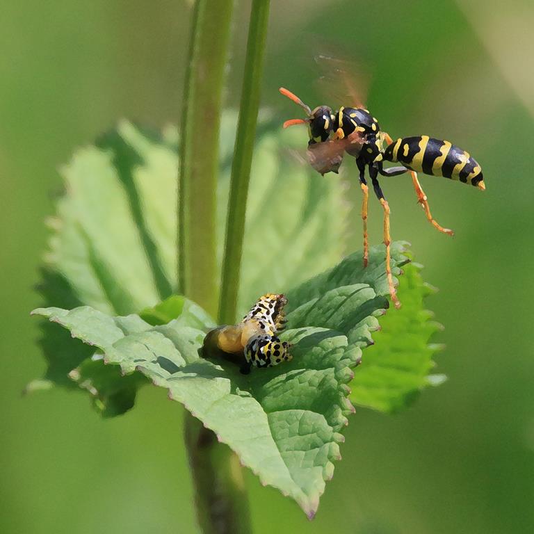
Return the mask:
<svg viewBox="0 0 534 534">
<path fill-rule="evenodd" d="M 151 326 L 136 315 L 111 317 L 87 306 L 33 313 L 102 350 L 104 362 L 120 364 L 122 373 L 141 371 L 169 389 L 263 483 L 293 497 L 312 517 L 353 412 L 346 385 L 387 300 L 356 283 L 298 304 L 283 334 L 292 343 L 293 360 L 246 376 L 234 364 L 200 358 L 204 332 L 181 318 Z M 168 302 L 157 313 L 179 307 L 184 312 L 180 302 Z"/>
</svg>

